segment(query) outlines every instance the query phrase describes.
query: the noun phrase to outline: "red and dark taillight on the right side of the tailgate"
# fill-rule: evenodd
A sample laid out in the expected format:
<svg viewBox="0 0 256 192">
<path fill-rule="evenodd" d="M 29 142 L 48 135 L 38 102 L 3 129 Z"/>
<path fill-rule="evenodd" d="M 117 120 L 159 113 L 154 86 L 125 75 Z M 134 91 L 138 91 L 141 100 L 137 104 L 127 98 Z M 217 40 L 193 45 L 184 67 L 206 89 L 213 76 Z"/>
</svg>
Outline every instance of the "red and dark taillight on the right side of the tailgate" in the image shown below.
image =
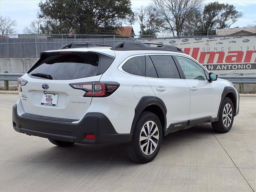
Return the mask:
<svg viewBox="0 0 256 192">
<path fill-rule="evenodd" d="M 107 97 L 116 91 L 119 87 L 117 82 L 81 82 L 70 83 L 74 89 L 84 90 L 84 97 Z"/>
</svg>

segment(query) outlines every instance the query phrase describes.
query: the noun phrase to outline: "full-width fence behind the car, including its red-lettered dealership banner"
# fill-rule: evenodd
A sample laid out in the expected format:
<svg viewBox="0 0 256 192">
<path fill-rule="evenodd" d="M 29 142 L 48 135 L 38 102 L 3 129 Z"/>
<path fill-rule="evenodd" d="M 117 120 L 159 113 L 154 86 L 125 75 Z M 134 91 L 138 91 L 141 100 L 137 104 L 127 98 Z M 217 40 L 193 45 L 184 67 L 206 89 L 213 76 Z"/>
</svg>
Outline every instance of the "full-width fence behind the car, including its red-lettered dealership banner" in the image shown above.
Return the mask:
<svg viewBox="0 0 256 192">
<path fill-rule="evenodd" d="M 0 72 L 25 73 L 40 52 L 68 43 L 114 45 L 120 41 L 168 44 L 182 48 L 208 70 L 225 75 L 256 76 L 256 36 L 120 36 L 116 34 L 18 34 L 0 36 Z M 2 85 L 2 82 L 1 82 Z"/>
</svg>

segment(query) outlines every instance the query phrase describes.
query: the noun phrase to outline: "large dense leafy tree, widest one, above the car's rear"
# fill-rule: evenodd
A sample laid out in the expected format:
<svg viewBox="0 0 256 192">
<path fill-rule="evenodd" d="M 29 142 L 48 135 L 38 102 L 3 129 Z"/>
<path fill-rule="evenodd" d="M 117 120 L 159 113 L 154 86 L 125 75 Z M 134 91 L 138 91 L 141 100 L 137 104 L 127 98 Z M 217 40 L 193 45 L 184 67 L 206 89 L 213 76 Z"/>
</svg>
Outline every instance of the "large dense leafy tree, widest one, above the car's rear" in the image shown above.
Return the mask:
<svg viewBox="0 0 256 192">
<path fill-rule="evenodd" d="M 51 33 L 113 32 L 122 21 L 134 21 L 130 0 L 45 0 L 39 8 L 38 16 L 48 21 L 44 27 Z"/>
</svg>

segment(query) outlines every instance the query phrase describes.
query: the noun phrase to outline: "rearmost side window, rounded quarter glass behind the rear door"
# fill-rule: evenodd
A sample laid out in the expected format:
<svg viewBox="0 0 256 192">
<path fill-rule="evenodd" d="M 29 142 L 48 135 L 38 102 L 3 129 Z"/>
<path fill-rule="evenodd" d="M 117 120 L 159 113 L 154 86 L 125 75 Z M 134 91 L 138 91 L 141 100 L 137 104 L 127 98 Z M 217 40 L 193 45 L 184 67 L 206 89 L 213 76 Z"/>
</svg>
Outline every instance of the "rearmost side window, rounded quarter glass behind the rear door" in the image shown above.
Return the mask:
<svg viewBox="0 0 256 192">
<path fill-rule="evenodd" d="M 145 76 L 145 71 L 146 71 L 145 56 L 138 56 L 138 57 L 130 58 L 122 66 L 122 69 L 125 72 L 128 72 L 133 75 Z"/>
</svg>

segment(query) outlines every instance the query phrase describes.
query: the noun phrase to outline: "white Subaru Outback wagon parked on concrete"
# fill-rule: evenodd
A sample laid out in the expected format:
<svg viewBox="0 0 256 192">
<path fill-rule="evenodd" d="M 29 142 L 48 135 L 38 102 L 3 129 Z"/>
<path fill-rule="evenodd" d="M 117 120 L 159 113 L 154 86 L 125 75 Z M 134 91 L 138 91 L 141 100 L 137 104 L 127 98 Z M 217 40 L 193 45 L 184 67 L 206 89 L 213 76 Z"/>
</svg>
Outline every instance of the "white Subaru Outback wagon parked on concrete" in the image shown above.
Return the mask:
<svg viewBox="0 0 256 192">
<path fill-rule="evenodd" d="M 124 143 L 140 163 L 156 157 L 163 136 L 206 122 L 226 133 L 239 112 L 231 82 L 179 48 L 142 42 L 42 52 L 18 90 L 17 132 L 58 146 Z"/>
</svg>

